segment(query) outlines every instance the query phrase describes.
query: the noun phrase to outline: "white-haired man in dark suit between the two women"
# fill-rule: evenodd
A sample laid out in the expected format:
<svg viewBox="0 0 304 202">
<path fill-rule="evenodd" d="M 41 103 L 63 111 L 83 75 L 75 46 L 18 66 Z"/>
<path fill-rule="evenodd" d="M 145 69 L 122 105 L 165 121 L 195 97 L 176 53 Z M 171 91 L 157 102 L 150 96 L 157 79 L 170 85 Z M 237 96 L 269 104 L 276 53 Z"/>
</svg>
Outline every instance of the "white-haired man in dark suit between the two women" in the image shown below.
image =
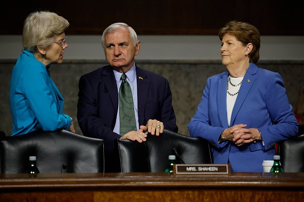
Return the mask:
<svg viewBox="0 0 304 202">
<path fill-rule="evenodd" d="M 167 79 L 135 65 L 140 49 L 135 31 L 114 23 L 104 30 L 102 46 L 109 65 L 81 76 L 77 118 L 83 135 L 104 140 L 105 171 L 113 172 L 115 139 L 143 142 L 145 132 L 158 136 L 163 129 L 178 132 L 178 127 Z M 132 90 L 136 129 L 120 134 L 123 73 Z"/>
</svg>

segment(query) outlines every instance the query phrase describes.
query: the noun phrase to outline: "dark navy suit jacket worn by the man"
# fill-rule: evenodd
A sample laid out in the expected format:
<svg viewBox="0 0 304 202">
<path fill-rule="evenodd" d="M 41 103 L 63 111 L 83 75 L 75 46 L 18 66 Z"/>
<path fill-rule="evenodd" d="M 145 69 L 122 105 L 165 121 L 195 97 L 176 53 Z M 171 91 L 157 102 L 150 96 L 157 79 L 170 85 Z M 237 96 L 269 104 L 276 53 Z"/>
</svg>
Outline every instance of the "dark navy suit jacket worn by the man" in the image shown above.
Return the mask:
<svg viewBox="0 0 304 202">
<path fill-rule="evenodd" d="M 164 128 L 178 132 L 172 107 L 172 94 L 167 79 L 136 66 L 138 121 L 145 125 L 149 119 L 164 123 Z M 85 136 L 104 140 L 105 167 L 111 164 L 114 133 L 118 111 L 118 89 L 111 66 L 104 66 L 84 74 L 79 80 L 77 119 Z M 111 168 L 105 168 L 110 170 Z"/>
</svg>

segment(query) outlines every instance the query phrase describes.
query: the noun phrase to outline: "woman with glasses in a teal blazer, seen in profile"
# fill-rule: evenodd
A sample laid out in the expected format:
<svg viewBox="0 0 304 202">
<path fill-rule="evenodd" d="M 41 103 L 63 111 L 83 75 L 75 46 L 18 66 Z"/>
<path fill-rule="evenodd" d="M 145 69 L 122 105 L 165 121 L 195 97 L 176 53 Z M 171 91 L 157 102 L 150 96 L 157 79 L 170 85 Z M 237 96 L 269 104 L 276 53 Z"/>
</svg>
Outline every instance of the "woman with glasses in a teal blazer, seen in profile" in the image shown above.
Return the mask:
<svg viewBox="0 0 304 202">
<path fill-rule="evenodd" d="M 72 118 L 62 114 L 64 99 L 50 77 L 51 63 L 62 63 L 68 47 L 68 20 L 56 13 L 31 13 L 23 29 L 23 51 L 13 67 L 10 83 L 12 135 L 38 129 L 75 132 Z"/>
</svg>

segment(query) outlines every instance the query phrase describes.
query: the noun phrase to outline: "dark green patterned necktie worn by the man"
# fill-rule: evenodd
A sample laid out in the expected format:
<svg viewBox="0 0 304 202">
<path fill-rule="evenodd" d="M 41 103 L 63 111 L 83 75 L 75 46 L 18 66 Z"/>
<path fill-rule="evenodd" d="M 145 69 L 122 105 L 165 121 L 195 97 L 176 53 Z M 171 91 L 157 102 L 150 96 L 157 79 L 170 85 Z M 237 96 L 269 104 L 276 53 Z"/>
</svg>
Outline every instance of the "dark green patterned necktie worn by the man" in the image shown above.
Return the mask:
<svg viewBox="0 0 304 202">
<path fill-rule="evenodd" d="M 123 136 L 129 131 L 136 131 L 135 114 L 132 91 L 129 83 L 126 81 L 126 75 L 121 75 L 121 85 L 119 89 L 119 118 L 120 135 Z"/>
</svg>

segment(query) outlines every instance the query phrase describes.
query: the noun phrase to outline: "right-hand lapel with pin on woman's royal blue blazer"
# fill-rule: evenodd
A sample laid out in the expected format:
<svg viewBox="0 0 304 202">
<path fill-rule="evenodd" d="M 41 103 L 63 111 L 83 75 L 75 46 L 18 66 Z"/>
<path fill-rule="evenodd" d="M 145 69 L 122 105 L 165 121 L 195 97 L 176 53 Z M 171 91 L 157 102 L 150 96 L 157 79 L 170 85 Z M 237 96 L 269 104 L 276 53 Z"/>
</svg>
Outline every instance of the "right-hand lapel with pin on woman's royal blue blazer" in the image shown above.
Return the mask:
<svg viewBox="0 0 304 202">
<path fill-rule="evenodd" d="M 244 75 L 244 79 L 243 79 L 240 91 L 235 100 L 235 104 L 234 104 L 232 114 L 231 114 L 231 124 L 230 125 L 235 124 L 234 123 L 235 117 L 236 117 L 238 111 L 240 111 L 246 96 L 248 95 L 252 85 L 254 84 L 254 82 L 256 80 L 256 77 L 257 77 L 256 71 L 257 71 L 257 66 L 253 63 L 250 63 L 248 70 L 247 70 L 246 74 Z"/>
</svg>

